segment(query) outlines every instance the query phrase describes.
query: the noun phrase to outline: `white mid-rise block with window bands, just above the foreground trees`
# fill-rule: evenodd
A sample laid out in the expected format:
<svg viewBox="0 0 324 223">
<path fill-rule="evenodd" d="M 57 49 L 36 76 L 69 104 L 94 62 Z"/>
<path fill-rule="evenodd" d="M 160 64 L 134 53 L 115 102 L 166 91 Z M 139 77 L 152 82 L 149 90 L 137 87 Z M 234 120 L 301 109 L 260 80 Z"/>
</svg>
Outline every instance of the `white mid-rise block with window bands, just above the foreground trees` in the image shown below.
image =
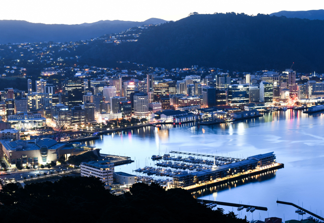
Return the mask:
<svg viewBox="0 0 324 223">
<path fill-rule="evenodd" d="M 98 177 L 105 185 L 112 184 L 114 164 L 107 161 L 81 162 L 81 176 Z"/>
</svg>

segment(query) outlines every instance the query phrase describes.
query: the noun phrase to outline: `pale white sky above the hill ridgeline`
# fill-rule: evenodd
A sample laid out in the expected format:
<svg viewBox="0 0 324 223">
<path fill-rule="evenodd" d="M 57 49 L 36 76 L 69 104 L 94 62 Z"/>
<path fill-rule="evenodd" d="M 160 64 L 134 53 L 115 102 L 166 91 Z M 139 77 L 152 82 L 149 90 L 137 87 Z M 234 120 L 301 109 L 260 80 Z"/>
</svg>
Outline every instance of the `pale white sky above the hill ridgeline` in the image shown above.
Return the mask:
<svg viewBox="0 0 324 223">
<path fill-rule="evenodd" d="M 179 20 L 191 12 L 258 13 L 324 9 L 323 0 L 1 0 L 0 19 L 46 24 L 81 24 L 99 20 Z"/>
</svg>

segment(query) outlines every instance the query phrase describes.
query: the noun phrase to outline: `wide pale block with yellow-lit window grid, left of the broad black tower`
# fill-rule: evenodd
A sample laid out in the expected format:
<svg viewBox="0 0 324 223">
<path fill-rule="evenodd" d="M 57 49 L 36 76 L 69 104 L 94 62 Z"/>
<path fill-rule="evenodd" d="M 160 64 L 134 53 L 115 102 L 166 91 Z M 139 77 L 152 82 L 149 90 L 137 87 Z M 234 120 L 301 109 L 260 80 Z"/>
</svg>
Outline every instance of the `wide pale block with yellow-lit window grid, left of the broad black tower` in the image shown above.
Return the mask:
<svg viewBox="0 0 324 223">
<path fill-rule="evenodd" d="M 33 92 L 27 95 L 27 104 L 28 111 L 49 109 L 52 106 L 52 94 Z"/>
</svg>

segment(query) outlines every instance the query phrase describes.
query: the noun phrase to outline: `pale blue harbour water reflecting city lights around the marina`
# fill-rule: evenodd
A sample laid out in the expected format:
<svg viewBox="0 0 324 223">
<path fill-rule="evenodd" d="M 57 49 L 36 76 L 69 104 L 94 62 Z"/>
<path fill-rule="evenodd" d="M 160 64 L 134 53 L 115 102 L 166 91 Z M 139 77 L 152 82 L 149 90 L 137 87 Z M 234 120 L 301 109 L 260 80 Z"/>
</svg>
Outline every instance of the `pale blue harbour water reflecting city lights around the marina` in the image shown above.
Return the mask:
<svg viewBox="0 0 324 223">
<path fill-rule="evenodd" d="M 102 153 L 130 156 L 135 162 L 118 166 L 116 171 L 133 173 L 139 167 L 154 166 L 152 155 L 169 151 L 222 155 L 246 158 L 272 152 L 284 169 L 248 179 L 222 188 L 209 188 L 193 193 L 195 198 L 267 207 L 268 211 L 220 206 L 248 220 L 264 221 L 266 217 L 284 220 L 301 219 L 295 207 L 277 204 L 276 200 L 292 202 L 324 215 L 324 115 L 303 114 L 302 111 L 266 113 L 263 117 L 233 123 L 198 126 L 162 125 L 116 132 L 87 142 L 101 148 Z M 160 148 L 160 149 L 159 149 Z M 156 166 L 155 166 L 156 167 Z M 218 207 L 218 206 L 217 206 Z M 309 215 L 304 215 L 305 219 Z"/>
</svg>

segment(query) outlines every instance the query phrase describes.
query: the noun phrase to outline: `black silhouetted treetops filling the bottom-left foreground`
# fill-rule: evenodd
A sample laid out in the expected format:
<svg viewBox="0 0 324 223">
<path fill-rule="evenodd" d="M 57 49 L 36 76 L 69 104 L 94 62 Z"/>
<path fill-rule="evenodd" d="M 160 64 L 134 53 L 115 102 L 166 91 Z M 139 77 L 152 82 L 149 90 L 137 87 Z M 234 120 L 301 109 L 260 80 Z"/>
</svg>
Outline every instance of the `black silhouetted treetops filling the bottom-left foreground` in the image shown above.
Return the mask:
<svg viewBox="0 0 324 223">
<path fill-rule="evenodd" d="M 247 222 L 233 212 L 201 205 L 184 189 L 166 191 L 158 184 L 137 183 L 130 193 L 116 196 L 94 177 L 62 177 L 24 189 L 7 184 L 0 191 L 0 202 L 2 222 Z"/>
</svg>

